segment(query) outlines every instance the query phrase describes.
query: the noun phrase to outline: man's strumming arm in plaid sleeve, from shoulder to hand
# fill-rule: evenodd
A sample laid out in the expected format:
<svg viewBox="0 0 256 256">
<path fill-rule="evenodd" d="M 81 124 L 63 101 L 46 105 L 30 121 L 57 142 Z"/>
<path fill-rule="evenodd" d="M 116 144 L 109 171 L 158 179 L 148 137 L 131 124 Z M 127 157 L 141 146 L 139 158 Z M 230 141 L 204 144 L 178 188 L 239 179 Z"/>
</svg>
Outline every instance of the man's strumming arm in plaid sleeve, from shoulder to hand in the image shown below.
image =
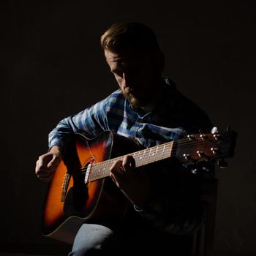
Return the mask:
<svg viewBox="0 0 256 256">
<path fill-rule="evenodd" d="M 35 167 L 37 177 L 45 182 L 50 181 L 75 132 L 83 131 L 91 136 L 99 134 L 105 125 L 104 115 L 105 101 L 102 100 L 75 116 L 61 120 L 49 134 L 49 151 L 39 156 L 37 160 Z"/>
</svg>

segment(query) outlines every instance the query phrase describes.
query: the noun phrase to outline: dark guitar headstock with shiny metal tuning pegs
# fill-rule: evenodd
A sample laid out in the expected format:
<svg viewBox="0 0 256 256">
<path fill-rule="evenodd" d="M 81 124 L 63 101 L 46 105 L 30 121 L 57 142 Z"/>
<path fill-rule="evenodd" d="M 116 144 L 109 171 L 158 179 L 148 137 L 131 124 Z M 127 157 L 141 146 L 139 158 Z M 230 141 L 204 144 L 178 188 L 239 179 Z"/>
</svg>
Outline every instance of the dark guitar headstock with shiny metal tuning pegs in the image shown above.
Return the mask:
<svg viewBox="0 0 256 256">
<path fill-rule="evenodd" d="M 226 168 L 225 158 L 233 157 L 236 138 L 236 132 L 227 129 L 220 133 L 216 127 L 210 133 L 187 135 L 176 142 L 176 158 L 195 173 L 198 167 L 207 170 L 207 162 L 211 160 L 217 160 L 219 167 Z"/>
</svg>

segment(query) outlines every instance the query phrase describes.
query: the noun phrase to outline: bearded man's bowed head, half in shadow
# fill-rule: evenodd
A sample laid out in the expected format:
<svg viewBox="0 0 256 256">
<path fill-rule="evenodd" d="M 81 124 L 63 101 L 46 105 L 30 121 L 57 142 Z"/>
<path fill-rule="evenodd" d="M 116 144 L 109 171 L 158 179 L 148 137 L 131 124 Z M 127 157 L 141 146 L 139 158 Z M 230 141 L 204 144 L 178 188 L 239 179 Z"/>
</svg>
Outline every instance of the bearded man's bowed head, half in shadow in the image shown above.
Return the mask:
<svg viewBox="0 0 256 256">
<path fill-rule="evenodd" d="M 124 97 L 135 107 L 154 102 L 165 64 L 154 31 L 141 23 L 115 23 L 100 42 Z"/>
</svg>

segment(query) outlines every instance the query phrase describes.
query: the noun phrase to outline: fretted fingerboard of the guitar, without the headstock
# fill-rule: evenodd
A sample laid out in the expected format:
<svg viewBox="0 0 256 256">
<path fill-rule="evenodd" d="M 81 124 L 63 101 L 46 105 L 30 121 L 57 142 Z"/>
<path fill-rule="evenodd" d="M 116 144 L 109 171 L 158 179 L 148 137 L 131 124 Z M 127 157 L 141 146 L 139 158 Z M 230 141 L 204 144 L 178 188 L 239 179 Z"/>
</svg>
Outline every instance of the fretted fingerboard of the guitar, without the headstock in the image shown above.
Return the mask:
<svg viewBox="0 0 256 256">
<path fill-rule="evenodd" d="M 125 156 L 132 156 L 135 159 L 135 166 L 140 167 L 143 165 L 151 164 L 153 162 L 158 162 L 162 159 L 169 158 L 172 155 L 172 151 L 173 141 L 170 141 L 159 146 L 146 148 L 121 157 L 108 159 L 103 162 L 92 163 L 88 168 L 88 173 L 86 173 L 86 182 L 95 181 L 99 178 L 105 178 L 109 176 L 110 168 L 112 167 L 112 165 L 116 161 L 124 159 Z"/>
</svg>

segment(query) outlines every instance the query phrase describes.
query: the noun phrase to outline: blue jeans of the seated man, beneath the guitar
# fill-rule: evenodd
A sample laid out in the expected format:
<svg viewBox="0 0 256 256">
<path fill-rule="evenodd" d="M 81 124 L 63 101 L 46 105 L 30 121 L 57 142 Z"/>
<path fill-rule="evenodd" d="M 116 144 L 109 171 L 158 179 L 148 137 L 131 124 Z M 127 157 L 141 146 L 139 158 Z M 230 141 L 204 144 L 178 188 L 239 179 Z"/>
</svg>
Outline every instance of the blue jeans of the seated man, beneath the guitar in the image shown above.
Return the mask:
<svg viewBox="0 0 256 256">
<path fill-rule="evenodd" d="M 105 225 L 83 224 L 69 256 L 187 256 L 191 253 L 191 242 L 191 236 L 166 235 L 138 222 L 117 230 Z"/>
</svg>

